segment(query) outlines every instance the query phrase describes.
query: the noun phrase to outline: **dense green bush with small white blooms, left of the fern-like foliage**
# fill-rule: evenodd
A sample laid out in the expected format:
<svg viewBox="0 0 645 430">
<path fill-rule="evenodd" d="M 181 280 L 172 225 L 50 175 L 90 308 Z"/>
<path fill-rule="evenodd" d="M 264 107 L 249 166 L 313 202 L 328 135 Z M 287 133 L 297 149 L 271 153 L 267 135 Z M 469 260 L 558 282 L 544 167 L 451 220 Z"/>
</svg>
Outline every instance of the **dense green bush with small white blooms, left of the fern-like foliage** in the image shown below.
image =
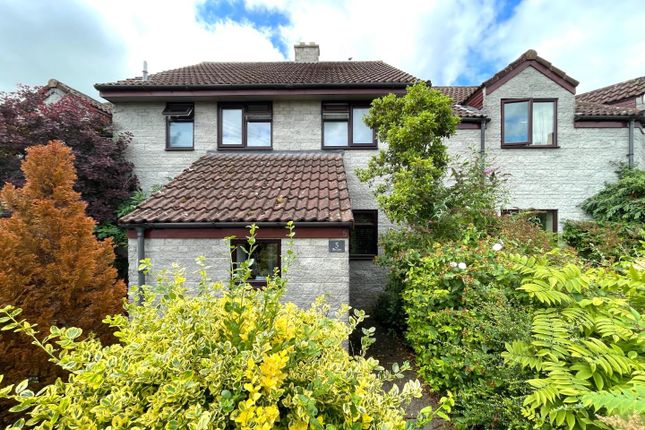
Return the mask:
<svg viewBox="0 0 645 430">
<path fill-rule="evenodd" d="M 530 309 L 501 247 L 479 238 L 436 244 L 405 280 L 406 339 L 430 388 L 455 393 L 457 428 L 528 428 L 521 418 L 528 376 L 501 353 L 505 342 L 528 337 Z"/>
</svg>

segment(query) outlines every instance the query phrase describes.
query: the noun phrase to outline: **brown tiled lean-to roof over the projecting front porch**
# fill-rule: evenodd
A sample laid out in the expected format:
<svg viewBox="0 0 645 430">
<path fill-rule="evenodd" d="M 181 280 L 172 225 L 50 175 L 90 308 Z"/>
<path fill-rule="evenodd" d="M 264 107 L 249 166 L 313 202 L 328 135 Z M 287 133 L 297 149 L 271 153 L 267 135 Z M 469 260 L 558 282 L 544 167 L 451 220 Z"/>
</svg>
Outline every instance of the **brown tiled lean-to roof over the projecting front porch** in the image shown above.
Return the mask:
<svg viewBox="0 0 645 430">
<path fill-rule="evenodd" d="M 209 153 L 120 220 L 352 222 L 339 153 Z"/>
</svg>

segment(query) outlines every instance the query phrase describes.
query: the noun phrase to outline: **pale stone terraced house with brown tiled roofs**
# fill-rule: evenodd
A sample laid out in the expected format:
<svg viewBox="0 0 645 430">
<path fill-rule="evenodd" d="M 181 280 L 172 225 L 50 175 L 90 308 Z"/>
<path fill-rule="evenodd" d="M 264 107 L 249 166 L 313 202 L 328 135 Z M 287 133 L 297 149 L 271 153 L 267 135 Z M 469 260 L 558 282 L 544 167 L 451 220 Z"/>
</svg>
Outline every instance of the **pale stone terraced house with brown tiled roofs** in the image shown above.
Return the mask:
<svg viewBox="0 0 645 430">
<path fill-rule="evenodd" d="M 117 130 L 133 135 L 129 157 L 146 190 L 164 185 L 121 222 L 136 261 L 178 262 L 195 280 L 203 255 L 226 279 L 227 237 L 260 226 L 252 282 L 280 268 L 285 225 L 296 224 L 298 259 L 287 299 L 370 309 L 385 284 L 372 262 L 391 224 L 355 168 L 386 143 L 362 121 L 371 100 L 418 80 L 380 61 L 318 61 L 315 44 L 295 61 L 200 63 L 97 84 Z M 615 179 L 615 163 L 645 166 L 640 78 L 576 96 L 578 82 L 529 50 L 479 86 L 437 87 L 461 117 L 451 153 L 490 154 L 509 176 L 502 211 L 531 210 L 557 231 L 578 205 Z M 633 101 L 633 103 L 632 103 Z"/>
</svg>

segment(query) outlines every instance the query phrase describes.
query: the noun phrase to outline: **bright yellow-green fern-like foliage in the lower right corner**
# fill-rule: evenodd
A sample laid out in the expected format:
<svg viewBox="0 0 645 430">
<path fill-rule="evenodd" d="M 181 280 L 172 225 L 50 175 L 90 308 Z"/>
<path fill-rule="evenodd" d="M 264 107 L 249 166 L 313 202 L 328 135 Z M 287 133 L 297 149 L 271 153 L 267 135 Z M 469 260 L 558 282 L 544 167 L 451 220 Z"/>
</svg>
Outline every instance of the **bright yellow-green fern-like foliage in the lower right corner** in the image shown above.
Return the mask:
<svg viewBox="0 0 645 430">
<path fill-rule="evenodd" d="M 531 339 L 509 342 L 507 362 L 535 372 L 525 416 L 571 429 L 609 428 L 601 415 L 645 411 L 645 270 L 583 271 L 516 257 L 523 291 L 538 306 Z"/>
</svg>

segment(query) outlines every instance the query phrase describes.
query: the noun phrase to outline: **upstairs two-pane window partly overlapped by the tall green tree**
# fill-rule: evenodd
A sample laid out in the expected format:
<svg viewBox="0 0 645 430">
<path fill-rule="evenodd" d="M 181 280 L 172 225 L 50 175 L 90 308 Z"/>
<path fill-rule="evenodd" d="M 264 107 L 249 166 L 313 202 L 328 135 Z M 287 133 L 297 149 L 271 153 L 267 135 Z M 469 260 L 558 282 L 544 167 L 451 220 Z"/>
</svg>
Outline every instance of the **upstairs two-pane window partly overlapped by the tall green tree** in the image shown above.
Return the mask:
<svg viewBox="0 0 645 430">
<path fill-rule="evenodd" d="M 323 148 L 376 148 L 374 131 L 363 121 L 369 109 L 365 103 L 323 103 Z"/>
</svg>

